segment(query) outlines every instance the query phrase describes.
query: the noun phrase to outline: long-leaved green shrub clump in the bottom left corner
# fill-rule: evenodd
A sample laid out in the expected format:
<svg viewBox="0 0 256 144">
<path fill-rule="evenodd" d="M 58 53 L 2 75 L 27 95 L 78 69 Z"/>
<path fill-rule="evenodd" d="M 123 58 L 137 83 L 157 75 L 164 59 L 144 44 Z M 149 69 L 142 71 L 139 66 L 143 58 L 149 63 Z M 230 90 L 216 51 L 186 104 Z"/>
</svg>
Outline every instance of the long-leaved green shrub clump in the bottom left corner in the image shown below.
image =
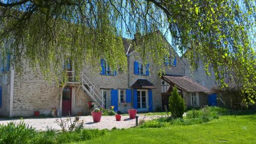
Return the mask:
<svg viewBox="0 0 256 144">
<path fill-rule="evenodd" d="M 35 129 L 23 121 L 18 124 L 10 122 L 0 125 L 0 143 L 31 143 L 31 139 L 36 135 Z"/>
</svg>

